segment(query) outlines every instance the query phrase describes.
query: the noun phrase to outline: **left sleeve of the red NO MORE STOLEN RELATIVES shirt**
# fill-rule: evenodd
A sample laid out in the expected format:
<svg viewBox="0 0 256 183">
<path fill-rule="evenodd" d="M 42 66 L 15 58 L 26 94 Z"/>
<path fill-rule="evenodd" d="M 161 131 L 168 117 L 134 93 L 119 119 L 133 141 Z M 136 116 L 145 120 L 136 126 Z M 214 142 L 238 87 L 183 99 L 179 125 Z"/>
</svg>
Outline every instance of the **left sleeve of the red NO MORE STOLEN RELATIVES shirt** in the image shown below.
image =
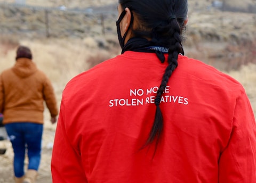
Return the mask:
<svg viewBox="0 0 256 183">
<path fill-rule="evenodd" d="M 65 123 L 65 107 L 61 103 L 52 152 L 51 171 L 53 183 L 87 183 L 81 155 L 71 145 Z"/>
</svg>

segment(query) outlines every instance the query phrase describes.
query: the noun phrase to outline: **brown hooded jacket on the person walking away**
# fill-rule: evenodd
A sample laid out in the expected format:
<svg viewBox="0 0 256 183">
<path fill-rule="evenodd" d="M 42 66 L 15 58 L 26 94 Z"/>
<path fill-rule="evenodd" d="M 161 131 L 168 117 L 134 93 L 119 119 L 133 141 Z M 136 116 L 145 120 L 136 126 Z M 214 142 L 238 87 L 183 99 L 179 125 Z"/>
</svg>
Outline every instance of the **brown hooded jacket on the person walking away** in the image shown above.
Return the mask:
<svg viewBox="0 0 256 183">
<path fill-rule="evenodd" d="M 51 117 L 58 115 L 50 80 L 31 59 L 21 57 L 0 75 L 0 113 L 4 124 L 34 122 L 43 124 L 44 101 Z"/>
</svg>

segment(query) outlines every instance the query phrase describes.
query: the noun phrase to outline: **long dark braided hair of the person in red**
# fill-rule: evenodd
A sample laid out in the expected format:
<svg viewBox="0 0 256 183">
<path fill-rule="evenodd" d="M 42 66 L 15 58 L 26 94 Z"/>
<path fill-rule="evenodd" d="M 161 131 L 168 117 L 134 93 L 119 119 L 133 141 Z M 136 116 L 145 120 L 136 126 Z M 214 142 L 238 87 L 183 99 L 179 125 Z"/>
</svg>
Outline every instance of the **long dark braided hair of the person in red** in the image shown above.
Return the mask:
<svg viewBox="0 0 256 183">
<path fill-rule="evenodd" d="M 184 54 L 182 32 L 188 13 L 187 0 L 119 0 L 122 9 L 128 7 L 139 22 L 131 28 L 135 37 L 148 37 L 155 45 L 169 48 L 167 62 L 161 85 L 155 98 L 156 113 L 153 127 L 143 147 L 156 140 L 156 147 L 163 131 L 163 116 L 159 104 L 167 82 L 178 66 L 178 55 Z M 155 148 L 156 150 L 156 148 Z"/>
</svg>

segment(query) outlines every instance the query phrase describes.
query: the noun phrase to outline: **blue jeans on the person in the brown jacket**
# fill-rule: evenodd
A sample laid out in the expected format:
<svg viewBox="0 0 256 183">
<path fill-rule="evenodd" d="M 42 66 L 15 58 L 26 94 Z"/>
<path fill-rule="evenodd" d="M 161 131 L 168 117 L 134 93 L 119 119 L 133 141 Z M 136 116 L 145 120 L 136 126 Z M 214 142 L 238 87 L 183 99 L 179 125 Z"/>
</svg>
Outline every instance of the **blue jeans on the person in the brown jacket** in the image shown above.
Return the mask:
<svg viewBox="0 0 256 183">
<path fill-rule="evenodd" d="M 15 122 L 5 124 L 14 152 L 14 175 L 22 177 L 24 173 L 25 153 L 27 149 L 28 169 L 38 170 L 41 160 L 43 124 Z"/>
</svg>

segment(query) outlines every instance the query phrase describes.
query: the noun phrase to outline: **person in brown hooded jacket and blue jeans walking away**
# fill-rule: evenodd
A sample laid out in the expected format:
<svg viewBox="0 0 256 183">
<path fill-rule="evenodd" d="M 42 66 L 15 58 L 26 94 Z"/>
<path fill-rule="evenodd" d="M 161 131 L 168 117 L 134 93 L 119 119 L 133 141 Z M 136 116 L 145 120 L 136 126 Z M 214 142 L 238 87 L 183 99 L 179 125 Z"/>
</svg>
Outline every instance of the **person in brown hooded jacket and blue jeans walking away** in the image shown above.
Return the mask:
<svg viewBox="0 0 256 183">
<path fill-rule="evenodd" d="M 35 182 L 41 160 L 44 101 L 57 121 L 57 101 L 51 81 L 37 69 L 28 47 L 19 46 L 16 63 L 0 75 L 0 113 L 14 152 L 15 182 Z M 27 151 L 26 151 L 27 150 Z M 24 161 L 28 155 L 25 175 Z"/>
</svg>

